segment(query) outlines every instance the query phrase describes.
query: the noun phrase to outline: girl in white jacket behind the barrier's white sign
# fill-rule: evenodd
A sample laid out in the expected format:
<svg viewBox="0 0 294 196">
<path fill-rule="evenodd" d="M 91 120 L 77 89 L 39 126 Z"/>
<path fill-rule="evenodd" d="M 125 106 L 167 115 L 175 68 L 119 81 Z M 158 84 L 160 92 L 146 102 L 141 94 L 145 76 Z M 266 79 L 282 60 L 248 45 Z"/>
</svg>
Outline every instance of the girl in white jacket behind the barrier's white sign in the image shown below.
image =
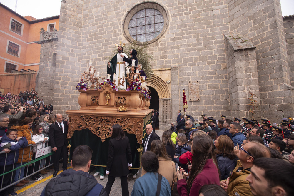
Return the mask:
<svg viewBox="0 0 294 196">
<path fill-rule="evenodd" d="M 32 141 L 35 143 L 43 142 L 33 146 L 34 157 L 36 156 L 36 152 L 38 152 L 39 149 L 46 147 L 45 141 L 49 139 L 48 137 L 44 137 L 42 132 L 43 132 L 43 127 L 41 125 L 37 125 L 33 131 Z M 41 159 L 40 161 L 37 161 L 35 163 L 35 170 L 39 170 L 43 168 L 44 165 L 45 165 L 45 159 Z M 41 174 L 47 174 L 47 172 L 42 170 Z M 35 175 L 37 177 L 37 174 Z"/>
</svg>

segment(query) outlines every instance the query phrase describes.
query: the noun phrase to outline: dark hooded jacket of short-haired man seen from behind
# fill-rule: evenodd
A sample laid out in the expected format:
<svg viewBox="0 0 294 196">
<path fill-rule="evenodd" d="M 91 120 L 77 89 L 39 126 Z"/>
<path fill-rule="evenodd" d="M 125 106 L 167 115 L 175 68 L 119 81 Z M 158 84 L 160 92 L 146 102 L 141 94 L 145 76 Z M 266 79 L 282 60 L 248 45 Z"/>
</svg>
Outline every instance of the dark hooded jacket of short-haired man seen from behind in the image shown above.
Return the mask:
<svg viewBox="0 0 294 196">
<path fill-rule="evenodd" d="M 107 196 L 107 193 L 94 176 L 81 170 L 69 169 L 48 182 L 40 196 L 45 195 Z"/>
</svg>

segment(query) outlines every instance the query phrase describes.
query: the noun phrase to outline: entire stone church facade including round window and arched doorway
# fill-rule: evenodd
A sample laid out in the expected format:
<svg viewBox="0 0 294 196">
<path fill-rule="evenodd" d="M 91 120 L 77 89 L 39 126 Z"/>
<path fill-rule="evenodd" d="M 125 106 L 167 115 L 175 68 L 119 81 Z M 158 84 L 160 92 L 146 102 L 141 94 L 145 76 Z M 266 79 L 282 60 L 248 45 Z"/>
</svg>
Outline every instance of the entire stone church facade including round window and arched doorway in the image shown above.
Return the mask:
<svg viewBox="0 0 294 196">
<path fill-rule="evenodd" d="M 293 26 L 279 0 L 61 1 L 58 38 L 40 36 L 38 93 L 57 112 L 77 110 L 75 86 L 89 60 L 106 76 L 114 44 L 137 40 L 155 58 L 148 86 L 159 95 L 161 130 L 183 110 L 183 88 L 194 118 L 251 117 L 254 107 L 255 118 L 280 124 L 294 110 Z"/>
</svg>

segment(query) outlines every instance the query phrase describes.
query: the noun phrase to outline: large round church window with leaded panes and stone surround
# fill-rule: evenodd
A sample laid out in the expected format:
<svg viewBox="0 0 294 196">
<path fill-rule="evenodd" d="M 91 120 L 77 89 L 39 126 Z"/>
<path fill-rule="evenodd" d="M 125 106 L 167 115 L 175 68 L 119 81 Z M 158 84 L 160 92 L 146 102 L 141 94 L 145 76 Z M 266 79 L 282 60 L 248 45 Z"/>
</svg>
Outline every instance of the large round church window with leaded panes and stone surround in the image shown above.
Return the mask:
<svg viewBox="0 0 294 196">
<path fill-rule="evenodd" d="M 130 42 L 152 43 L 158 40 L 168 27 L 167 10 L 154 2 L 134 6 L 126 15 L 123 33 Z"/>
</svg>

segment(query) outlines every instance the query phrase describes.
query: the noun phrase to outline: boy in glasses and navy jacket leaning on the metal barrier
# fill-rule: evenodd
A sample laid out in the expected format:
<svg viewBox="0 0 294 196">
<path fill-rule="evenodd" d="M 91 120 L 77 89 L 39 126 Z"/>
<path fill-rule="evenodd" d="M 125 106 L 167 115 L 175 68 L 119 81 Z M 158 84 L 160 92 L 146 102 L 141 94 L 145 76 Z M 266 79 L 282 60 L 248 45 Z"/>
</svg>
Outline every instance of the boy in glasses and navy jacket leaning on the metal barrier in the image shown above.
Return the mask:
<svg viewBox="0 0 294 196">
<path fill-rule="evenodd" d="M 26 137 L 17 137 L 17 130 L 16 129 L 9 129 L 6 132 L 6 135 L 4 134 L 3 137 L 0 140 L 0 146 L 2 148 L 8 148 L 11 150 L 10 153 L 4 153 L 0 154 L 0 173 L 6 173 L 11 170 L 13 170 L 14 163 L 17 162 L 19 157 L 19 148 L 24 148 L 28 145 L 28 140 L 26 140 Z M 7 156 L 7 157 L 6 157 Z M 6 159 L 6 162 L 5 162 Z M 4 171 L 5 167 L 5 171 Z M 2 187 L 6 187 L 10 184 L 11 179 L 14 179 L 15 172 L 13 172 L 11 176 L 11 172 L 4 175 L 3 182 L 2 182 L 2 176 L 0 177 L 0 184 L 2 183 Z M 8 187 L 5 190 L 2 190 L 0 192 L 0 195 L 17 195 L 16 192 L 14 192 L 14 185 Z"/>
</svg>

